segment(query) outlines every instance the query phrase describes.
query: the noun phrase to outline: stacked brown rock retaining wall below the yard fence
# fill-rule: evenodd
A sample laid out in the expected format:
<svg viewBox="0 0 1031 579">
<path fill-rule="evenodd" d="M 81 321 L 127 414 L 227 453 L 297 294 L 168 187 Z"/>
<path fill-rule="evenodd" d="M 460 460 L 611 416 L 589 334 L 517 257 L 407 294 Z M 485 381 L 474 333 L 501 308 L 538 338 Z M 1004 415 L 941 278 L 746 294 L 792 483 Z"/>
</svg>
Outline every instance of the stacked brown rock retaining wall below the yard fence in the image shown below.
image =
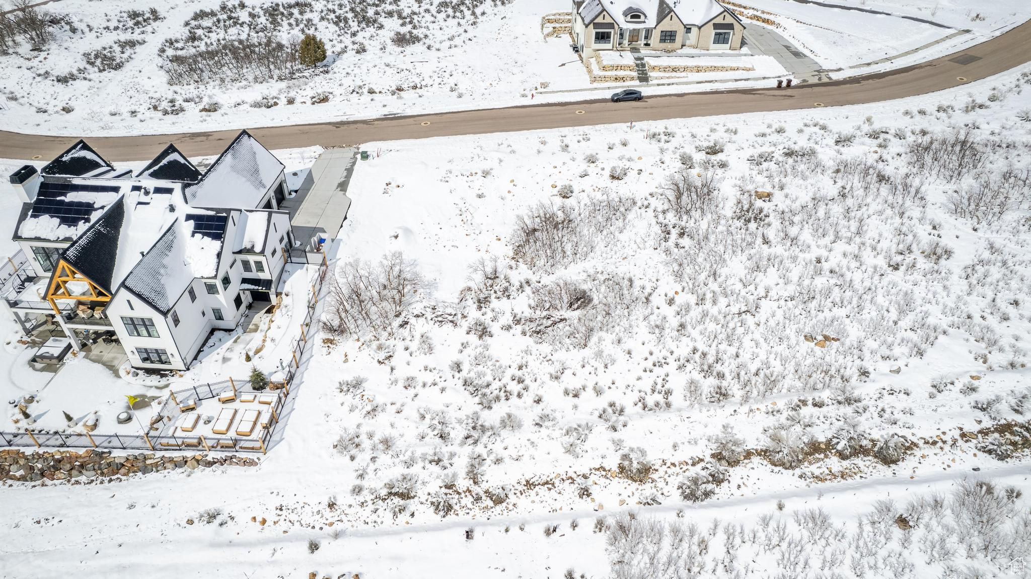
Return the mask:
<svg viewBox="0 0 1031 579">
<path fill-rule="evenodd" d="M 206 469 L 220 466 L 255 467 L 257 458 L 209 454 L 158 456 L 153 452 L 115 454 L 109 450 L 87 449 L 81 452 L 55 450 L 25 453 L 16 449 L 0 450 L 0 480 L 35 482 L 39 480 L 90 480 L 134 474 L 149 474 L 175 469 Z"/>
</svg>

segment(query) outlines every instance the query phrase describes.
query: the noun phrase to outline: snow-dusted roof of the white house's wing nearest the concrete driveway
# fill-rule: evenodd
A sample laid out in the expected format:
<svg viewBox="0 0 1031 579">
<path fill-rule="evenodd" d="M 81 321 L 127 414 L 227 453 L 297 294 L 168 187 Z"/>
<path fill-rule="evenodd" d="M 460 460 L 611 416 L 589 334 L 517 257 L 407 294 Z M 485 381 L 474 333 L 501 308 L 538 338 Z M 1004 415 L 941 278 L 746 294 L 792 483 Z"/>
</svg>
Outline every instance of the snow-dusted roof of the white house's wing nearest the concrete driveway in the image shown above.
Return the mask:
<svg viewBox="0 0 1031 579">
<path fill-rule="evenodd" d="M 196 207 L 254 209 L 275 184 L 284 165 L 246 131 L 214 160 L 200 182 L 184 190 Z"/>
</svg>

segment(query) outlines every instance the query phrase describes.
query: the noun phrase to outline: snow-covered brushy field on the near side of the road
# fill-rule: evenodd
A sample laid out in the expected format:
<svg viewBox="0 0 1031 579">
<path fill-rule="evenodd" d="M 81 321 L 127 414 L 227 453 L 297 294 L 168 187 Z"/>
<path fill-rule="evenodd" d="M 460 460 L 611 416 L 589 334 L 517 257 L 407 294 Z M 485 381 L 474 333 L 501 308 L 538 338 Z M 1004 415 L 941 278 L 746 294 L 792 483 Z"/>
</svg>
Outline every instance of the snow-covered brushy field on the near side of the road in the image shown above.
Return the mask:
<svg viewBox="0 0 1031 579">
<path fill-rule="evenodd" d="M 1026 576 L 1029 95 L 370 143 L 262 465 L 0 487 L 0 573 Z"/>
</svg>

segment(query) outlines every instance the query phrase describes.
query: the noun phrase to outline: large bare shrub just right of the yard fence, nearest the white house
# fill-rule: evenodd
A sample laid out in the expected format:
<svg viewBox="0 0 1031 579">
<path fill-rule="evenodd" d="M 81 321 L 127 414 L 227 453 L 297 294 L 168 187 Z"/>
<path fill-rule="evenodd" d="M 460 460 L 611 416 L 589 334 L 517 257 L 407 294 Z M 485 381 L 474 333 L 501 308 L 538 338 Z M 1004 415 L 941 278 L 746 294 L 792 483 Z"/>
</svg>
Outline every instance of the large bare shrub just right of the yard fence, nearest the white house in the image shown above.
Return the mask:
<svg viewBox="0 0 1031 579">
<path fill-rule="evenodd" d="M 330 278 L 323 325 L 331 334 L 392 336 L 397 319 L 417 303 L 424 286 L 415 263 L 399 251 L 376 264 L 352 260 Z"/>
</svg>

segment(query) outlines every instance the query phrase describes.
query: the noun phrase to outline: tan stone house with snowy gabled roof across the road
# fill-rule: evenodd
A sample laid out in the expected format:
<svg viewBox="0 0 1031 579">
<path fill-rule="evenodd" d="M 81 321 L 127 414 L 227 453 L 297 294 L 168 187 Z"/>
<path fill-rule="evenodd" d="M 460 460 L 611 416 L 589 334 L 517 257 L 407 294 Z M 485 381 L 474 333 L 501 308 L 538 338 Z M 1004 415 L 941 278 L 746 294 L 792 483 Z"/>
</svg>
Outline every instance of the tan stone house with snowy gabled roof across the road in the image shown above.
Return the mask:
<svg viewBox="0 0 1031 579">
<path fill-rule="evenodd" d="M 573 0 L 580 54 L 629 48 L 738 50 L 744 25 L 717 0 Z"/>
</svg>

